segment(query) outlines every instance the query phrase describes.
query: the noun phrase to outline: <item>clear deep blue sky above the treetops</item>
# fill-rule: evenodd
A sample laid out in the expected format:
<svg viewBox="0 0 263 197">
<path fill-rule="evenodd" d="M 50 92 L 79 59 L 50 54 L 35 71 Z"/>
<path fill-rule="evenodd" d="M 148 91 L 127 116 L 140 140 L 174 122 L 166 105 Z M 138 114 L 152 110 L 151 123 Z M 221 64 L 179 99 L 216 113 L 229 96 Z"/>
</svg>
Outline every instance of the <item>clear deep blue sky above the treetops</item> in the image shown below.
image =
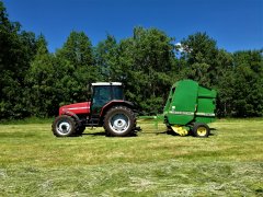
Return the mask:
<svg viewBox="0 0 263 197">
<path fill-rule="evenodd" d="M 95 46 L 133 28 L 156 27 L 175 43 L 206 32 L 218 48 L 233 53 L 263 48 L 263 0 L 3 0 L 9 19 L 43 34 L 52 53 L 71 31 L 83 31 Z"/>
</svg>

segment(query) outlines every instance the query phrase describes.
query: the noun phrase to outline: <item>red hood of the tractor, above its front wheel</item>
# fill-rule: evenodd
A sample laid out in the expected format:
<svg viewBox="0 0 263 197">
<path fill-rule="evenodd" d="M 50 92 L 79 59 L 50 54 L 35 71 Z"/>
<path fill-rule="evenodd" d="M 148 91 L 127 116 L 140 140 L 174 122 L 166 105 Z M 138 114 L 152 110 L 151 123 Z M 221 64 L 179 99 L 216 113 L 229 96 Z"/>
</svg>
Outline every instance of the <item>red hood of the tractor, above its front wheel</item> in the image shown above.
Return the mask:
<svg viewBox="0 0 263 197">
<path fill-rule="evenodd" d="M 59 115 L 66 112 L 71 112 L 73 114 L 90 114 L 90 102 L 64 105 L 59 108 Z"/>
</svg>

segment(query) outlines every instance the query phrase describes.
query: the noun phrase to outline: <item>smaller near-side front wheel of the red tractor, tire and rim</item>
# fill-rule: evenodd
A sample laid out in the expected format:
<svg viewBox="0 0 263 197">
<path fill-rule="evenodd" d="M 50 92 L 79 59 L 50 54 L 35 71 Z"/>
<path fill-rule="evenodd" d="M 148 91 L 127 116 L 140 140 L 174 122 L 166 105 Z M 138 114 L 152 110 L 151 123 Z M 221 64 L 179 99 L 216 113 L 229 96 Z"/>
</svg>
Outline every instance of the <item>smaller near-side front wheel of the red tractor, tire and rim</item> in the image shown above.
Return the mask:
<svg viewBox="0 0 263 197">
<path fill-rule="evenodd" d="M 70 116 L 61 115 L 56 117 L 52 128 L 56 137 L 69 137 L 76 134 L 77 124 Z"/>
</svg>

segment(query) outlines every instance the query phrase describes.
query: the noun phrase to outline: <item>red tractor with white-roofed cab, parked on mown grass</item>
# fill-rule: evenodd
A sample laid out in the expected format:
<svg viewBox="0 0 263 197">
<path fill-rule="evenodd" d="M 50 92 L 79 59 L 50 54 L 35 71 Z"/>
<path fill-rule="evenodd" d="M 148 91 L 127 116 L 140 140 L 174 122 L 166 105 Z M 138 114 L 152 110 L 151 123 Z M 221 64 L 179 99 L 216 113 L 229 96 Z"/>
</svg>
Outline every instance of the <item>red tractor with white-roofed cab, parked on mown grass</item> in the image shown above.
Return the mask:
<svg viewBox="0 0 263 197">
<path fill-rule="evenodd" d="M 91 85 L 91 101 L 65 105 L 53 123 L 57 137 L 80 136 L 85 127 L 104 127 L 106 136 L 133 136 L 136 130 L 136 109 L 124 100 L 119 82 L 99 82 Z"/>
</svg>

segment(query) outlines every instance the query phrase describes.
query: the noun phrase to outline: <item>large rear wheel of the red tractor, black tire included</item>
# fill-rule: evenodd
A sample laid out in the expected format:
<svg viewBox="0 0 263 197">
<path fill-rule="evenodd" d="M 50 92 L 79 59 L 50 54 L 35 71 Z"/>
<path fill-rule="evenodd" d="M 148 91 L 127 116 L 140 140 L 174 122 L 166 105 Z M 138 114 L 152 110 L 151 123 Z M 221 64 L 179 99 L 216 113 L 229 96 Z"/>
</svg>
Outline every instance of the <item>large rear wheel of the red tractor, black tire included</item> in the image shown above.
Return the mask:
<svg viewBox="0 0 263 197">
<path fill-rule="evenodd" d="M 112 137 L 133 136 L 136 127 L 134 112 L 125 106 L 114 106 L 104 118 L 104 129 Z"/>
</svg>

